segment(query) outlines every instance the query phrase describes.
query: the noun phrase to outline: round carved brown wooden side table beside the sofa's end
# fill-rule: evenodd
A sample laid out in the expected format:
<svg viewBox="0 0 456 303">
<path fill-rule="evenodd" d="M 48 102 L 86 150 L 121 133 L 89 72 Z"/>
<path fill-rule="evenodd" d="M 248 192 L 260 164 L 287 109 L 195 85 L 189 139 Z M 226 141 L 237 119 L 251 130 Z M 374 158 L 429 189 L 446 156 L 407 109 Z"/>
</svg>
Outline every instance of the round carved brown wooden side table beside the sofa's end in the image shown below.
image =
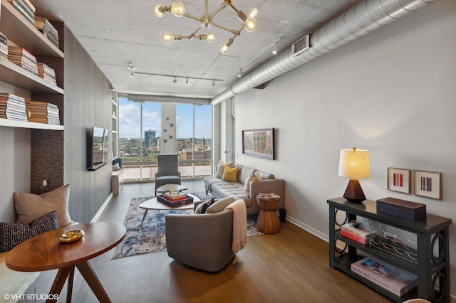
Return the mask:
<svg viewBox="0 0 456 303">
<path fill-rule="evenodd" d="M 259 206 L 257 229 L 261 233 L 279 233 L 280 221 L 277 216 L 277 206 L 280 198 L 261 198 L 257 196 Z"/>
</svg>

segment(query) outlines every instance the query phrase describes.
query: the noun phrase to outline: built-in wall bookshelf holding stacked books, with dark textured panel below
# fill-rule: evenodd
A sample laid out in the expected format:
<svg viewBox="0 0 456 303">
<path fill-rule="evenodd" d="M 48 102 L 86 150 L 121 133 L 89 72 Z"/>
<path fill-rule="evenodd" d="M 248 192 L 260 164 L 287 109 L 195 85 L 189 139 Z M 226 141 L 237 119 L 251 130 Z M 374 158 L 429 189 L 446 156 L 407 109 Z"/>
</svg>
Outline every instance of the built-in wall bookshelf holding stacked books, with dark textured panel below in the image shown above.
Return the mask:
<svg viewBox="0 0 456 303">
<path fill-rule="evenodd" d="M 7 58 L 0 58 L 0 91 L 19 97 L 26 102 L 38 100 L 50 102 L 59 108 L 61 125 L 0 119 L 0 132 L 11 128 L 30 129 L 30 192 L 43 193 L 63 184 L 64 156 L 64 24 L 51 21 L 58 31 L 59 47 L 38 31 L 7 0 L 0 0 L 0 31 L 8 39 L 8 46 L 26 49 L 38 62 L 56 71 L 57 85 L 28 72 Z M 31 1 L 33 2 L 33 0 Z M 41 16 L 36 11 L 36 16 Z M 41 179 L 48 179 L 48 187 L 41 186 Z"/>
</svg>

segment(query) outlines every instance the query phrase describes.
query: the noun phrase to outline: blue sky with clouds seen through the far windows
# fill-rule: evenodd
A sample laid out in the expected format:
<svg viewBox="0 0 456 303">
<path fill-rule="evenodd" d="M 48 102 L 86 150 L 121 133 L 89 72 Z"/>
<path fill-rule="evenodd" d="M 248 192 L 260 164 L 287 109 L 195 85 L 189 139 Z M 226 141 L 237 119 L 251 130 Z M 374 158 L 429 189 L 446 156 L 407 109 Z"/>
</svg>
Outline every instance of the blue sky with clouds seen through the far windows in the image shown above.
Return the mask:
<svg viewBox="0 0 456 303">
<path fill-rule="evenodd" d="M 161 104 L 145 102 L 142 104 L 142 137 L 146 130 L 155 130 L 157 137 L 161 137 Z M 119 138 L 139 138 L 140 105 L 128 102 L 124 97 L 119 98 Z M 177 138 L 191 138 L 193 136 L 193 105 L 176 105 Z M 195 137 L 212 137 L 212 106 L 195 107 Z"/>
</svg>

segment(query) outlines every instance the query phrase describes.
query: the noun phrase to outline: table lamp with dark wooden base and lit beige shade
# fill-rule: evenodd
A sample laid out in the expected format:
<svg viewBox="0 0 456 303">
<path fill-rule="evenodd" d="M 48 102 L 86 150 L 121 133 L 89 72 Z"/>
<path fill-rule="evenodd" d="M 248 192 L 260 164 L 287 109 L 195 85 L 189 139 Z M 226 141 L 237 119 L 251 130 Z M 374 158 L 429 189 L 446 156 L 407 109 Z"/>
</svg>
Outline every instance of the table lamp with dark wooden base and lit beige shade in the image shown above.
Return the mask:
<svg viewBox="0 0 456 303">
<path fill-rule="evenodd" d="M 353 149 L 341 149 L 339 176 L 350 178 L 343 198 L 355 203 L 361 203 L 366 200 L 358 179 L 371 178 L 369 151 L 356 149 L 356 147 L 353 147 Z"/>
</svg>

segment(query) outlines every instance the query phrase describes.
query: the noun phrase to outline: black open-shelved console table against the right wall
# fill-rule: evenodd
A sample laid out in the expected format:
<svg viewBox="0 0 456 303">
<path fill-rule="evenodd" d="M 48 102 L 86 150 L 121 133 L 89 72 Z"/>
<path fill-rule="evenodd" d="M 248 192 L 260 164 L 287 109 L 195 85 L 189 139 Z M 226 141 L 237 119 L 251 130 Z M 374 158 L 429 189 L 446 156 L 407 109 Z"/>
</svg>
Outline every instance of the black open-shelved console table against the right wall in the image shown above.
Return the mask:
<svg viewBox="0 0 456 303">
<path fill-rule="evenodd" d="M 377 212 L 376 202 L 365 200 L 352 203 L 345 198 L 332 198 L 329 204 L 329 266 L 342 270 L 347 275 L 363 282 L 377 292 L 395 302 L 420 297 L 432 302 L 450 302 L 450 260 L 449 231 L 451 219 L 427 214 L 420 220 L 407 220 L 388 213 Z M 343 222 L 338 222 L 338 211 L 344 211 Z M 404 260 L 398 255 L 380 250 L 369 244 L 363 245 L 340 235 L 341 225 L 356 220 L 357 216 L 374 220 L 378 223 L 394 226 L 417 236 L 417 260 Z M 336 218 L 337 217 L 337 218 Z M 340 248 L 342 244 L 343 248 Z M 437 251 L 438 255 L 434 255 Z M 363 259 L 366 255 L 378 257 L 385 262 L 398 266 L 418 275 L 418 286 L 398 297 L 375 283 L 351 272 L 351 263 Z"/>
</svg>

